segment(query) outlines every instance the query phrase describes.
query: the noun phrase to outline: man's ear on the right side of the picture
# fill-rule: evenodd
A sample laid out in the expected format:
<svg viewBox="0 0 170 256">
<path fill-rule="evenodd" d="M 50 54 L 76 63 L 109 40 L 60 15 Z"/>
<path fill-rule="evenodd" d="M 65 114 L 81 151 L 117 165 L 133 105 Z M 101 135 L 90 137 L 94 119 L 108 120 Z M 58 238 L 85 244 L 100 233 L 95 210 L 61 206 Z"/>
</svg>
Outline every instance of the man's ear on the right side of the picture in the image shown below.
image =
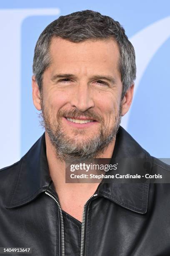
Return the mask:
<svg viewBox="0 0 170 256">
<path fill-rule="evenodd" d="M 125 115 L 130 108 L 133 99 L 133 91 L 134 84 L 130 86 L 130 88 L 127 90 L 125 96 L 122 99 L 122 116 Z"/>
</svg>

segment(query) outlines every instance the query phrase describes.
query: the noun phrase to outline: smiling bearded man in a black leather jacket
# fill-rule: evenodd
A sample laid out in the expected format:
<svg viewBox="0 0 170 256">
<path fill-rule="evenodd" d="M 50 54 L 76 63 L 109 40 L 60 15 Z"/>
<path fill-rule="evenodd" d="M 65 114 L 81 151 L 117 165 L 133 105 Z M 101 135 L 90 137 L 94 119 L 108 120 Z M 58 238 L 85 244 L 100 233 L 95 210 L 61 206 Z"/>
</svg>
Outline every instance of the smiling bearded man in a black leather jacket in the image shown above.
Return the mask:
<svg viewBox="0 0 170 256">
<path fill-rule="evenodd" d="M 170 255 L 169 184 L 65 182 L 65 163 L 75 160 L 170 170 L 120 126 L 136 73 L 124 29 L 91 10 L 60 16 L 37 41 L 33 73 L 45 133 L 0 171 L 0 246 L 34 256 Z"/>
</svg>

